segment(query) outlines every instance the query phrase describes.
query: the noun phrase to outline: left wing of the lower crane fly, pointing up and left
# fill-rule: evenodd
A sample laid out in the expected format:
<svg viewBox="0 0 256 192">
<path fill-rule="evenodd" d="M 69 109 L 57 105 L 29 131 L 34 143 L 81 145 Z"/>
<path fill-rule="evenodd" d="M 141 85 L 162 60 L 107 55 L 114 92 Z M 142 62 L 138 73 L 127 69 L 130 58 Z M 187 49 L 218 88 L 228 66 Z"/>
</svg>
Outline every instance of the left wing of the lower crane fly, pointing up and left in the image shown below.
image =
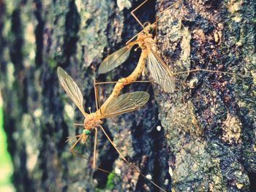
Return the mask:
<svg viewBox="0 0 256 192">
<path fill-rule="evenodd" d="M 62 87 L 69 95 L 70 99 L 75 103 L 78 109 L 83 113 L 83 116 L 88 114 L 83 110 L 83 95 L 78 88 L 78 85 L 72 79 L 72 77 L 67 74 L 60 66 L 57 69 L 57 74 L 59 77 L 59 82 L 61 82 Z"/>
</svg>

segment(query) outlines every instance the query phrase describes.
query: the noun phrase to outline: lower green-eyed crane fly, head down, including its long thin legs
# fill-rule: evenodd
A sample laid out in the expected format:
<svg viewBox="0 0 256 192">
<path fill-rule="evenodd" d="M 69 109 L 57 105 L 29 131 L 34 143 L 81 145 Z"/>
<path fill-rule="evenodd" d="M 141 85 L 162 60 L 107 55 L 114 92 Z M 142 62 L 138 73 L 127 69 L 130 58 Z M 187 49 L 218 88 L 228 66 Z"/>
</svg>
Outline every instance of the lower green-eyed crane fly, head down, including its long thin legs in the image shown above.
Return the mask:
<svg viewBox="0 0 256 192">
<path fill-rule="evenodd" d="M 75 136 L 78 138 L 78 140 L 70 147 L 70 151 L 72 152 L 74 150 L 75 145 L 78 144 L 78 142 L 82 142 L 83 144 L 86 142 L 86 139 L 89 137 L 89 134 L 91 133 L 91 129 L 95 130 L 95 138 L 94 138 L 94 160 L 93 160 L 93 167 L 96 167 L 96 145 L 97 145 L 97 128 L 101 128 L 102 132 L 105 134 L 105 136 L 108 138 L 109 142 L 113 147 L 115 147 L 118 154 L 121 156 L 121 158 L 129 165 L 132 166 L 136 170 L 136 172 L 139 172 L 138 168 L 133 166 L 132 164 L 129 164 L 129 161 L 124 157 L 124 155 L 121 154 L 121 152 L 118 150 L 116 145 L 112 142 L 110 137 L 108 137 L 108 134 L 105 132 L 104 128 L 101 126 L 102 119 L 113 117 L 116 115 L 121 115 L 126 112 L 132 112 L 135 110 L 138 110 L 140 107 L 143 107 L 143 105 L 146 104 L 146 102 L 149 99 L 149 94 L 145 91 L 136 91 L 132 93 L 124 93 L 121 96 L 117 96 L 118 94 L 111 94 L 112 97 L 108 97 L 108 99 L 102 104 L 99 109 L 97 109 L 96 112 L 92 112 L 88 114 L 83 109 L 83 95 L 80 91 L 80 88 L 78 88 L 78 85 L 76 82 L 72 79 L 72 77 L 67 74 L 67 72 L 64 71 L 61 67 L 58 67 L 57 74 L 59 77 L 59 82 L 61 82 L 61 86 L 64 88 L 70 99 L 75 103 L 75 105 L 78 107 L 80 112 L 82 112 L 85 120 L 83 124 L 75 124 L 77 126 L 83 126 L 83 131 L 81 134 Z M 94 83 L 94 87 L 97 83 Z M 121 83 L 122 84 L 122 83 Z M 96 103 L 98 101 L 97 96 L 97 89 L 95 90 L 95 97 L 96 97 Z M 110 96 L 111 96 L 110 95 Z M 116 96 L 116 98 L 114 98 Z M 111 98 L 111 99 L 110 99 Z M 97 108 L 99 104 L 97 103 Z M 103 169 L 99 169 L 104 171 Z M 143 177 L 146 178 L 144 174 L 139 172 Z M 147 178 L 146 178 L 147 179 Z M 147 179 L 148 180 L 148 179 Z M 160 188 L 159 185 L 155 184 L 153 181 L 149 180 L 153 185 L 157 186 L 162 191 L 165 191 L 164 189 Z"/>
</svg>

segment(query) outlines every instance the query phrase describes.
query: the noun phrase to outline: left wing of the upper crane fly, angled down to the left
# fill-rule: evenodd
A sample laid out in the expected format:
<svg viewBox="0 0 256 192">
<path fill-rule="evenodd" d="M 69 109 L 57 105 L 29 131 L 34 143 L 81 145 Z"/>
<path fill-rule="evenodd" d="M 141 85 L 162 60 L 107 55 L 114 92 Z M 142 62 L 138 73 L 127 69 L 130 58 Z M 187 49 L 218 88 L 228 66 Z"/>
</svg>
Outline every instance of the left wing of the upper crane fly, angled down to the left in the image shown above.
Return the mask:
<svg viewBox="0 0 256 192">
<path fill-rule="evenodd" d="M 129 43 L 127 46 L 122 47 L 120 50 L 117 50 L 105 58 L 99 66 L 99 74 L 110 72 L 117 66 L 123 64 L 124 61 L 127 61 L 133 45 L 135 45 L 135 42 Z"/>
</svg>

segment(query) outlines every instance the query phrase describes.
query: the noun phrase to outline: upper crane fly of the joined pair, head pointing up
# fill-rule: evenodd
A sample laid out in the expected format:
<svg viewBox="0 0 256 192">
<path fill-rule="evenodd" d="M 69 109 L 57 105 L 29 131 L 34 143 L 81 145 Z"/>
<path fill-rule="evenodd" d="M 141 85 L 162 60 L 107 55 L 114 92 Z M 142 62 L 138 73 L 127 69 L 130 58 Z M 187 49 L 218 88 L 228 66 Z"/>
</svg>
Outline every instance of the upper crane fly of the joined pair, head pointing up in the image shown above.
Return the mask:
<svg viewBox="0 0 256 192">
<path fill-rule="evenodd" d="M 146 0 L 147 1 L 147 0 Z M 140 4 L 136 9 L 134 9 L 131 13 L 132 16 L 135 18 L 135 20 L 140 23 L 140 20 L 135 16 L 134 12 L 140 8 L 143 4 L 146 3 L 144 1 L 142 4 Z M 171 5 L 170 7 L 173 7 L 174 5 L 178 4 L 180 1 L 177 1 L 175 4 Z M 167 9 L 170 9 L 168 7 Z M 166 9 L 165 9 L 166 10 Z M 162 12 L 161 12 L 162 13 Z M 104 74 L 107 72 L 110 72 L 111 70 L 115 69 L 117 66 L 120 66 L 124 63 L 124 61 L 127 60 L 129 57 L 129 53 L 132 50 L 132 47 L 134 45 L 138 45 L 142 53 L 140 55 L 140 61 L 146 62 L 148 64 L 148 69 L 151 72 L 151 76 L 154 79 L 154 82 L 159 84 L 164 91 L 167 93 L 173 93 L 175 89 L 175 81 L 173 78 L 173 72 L 170 70 L 169 66 L 165 64 L 164 61 L 157 55 L 157 44 L 156 41 L 153 39 L 153 35 L 150 34 L 150 31 L 153 29 L 157 29 L 157 22 L 155 23 L 146 23 L 147 26 L 140 23 L 140 26 L 143 27 L 143 31 L 141 31 L 137 37 L 137 40 L 130 42 L 132 39 L 130 39 L 127 42 L 127 45 L 125 47 L 122 47 L 120 50 L 117 50 L 116 52 L 110 54 L 107 58 L 105 58 L 104 61 L 102 61 L 102 64 L 99 66 L 99 74 Z M 143 58 L 143 59 L 142 59 Z M 140 64 L 139 61 L 139 64 Z M 145 66 L 145 64 L 143 64 Z M 144 69 L 144 67 L 143 67 Z M 137 71 L 138 74 L 141 74 L 143 72 L 143 69 L 140 71 Z M 135 69 L 136 72 L 136 69 Z"/>
</svg>

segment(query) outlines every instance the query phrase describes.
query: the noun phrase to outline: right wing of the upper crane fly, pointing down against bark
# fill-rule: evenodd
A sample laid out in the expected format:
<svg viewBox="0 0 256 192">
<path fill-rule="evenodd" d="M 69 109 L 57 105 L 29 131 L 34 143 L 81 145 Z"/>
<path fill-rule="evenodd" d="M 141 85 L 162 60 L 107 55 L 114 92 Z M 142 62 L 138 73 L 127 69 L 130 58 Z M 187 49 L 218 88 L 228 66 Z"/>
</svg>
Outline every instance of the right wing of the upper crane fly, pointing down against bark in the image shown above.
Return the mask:
<svg viewBox="0 0 256 192">
<path fill-rule="evenodd" d="M 170 71 L 169 66 L 167 66 L 150 47 L 148 47 L 148 69 L 154 81 L 157 82 L 165 92 L 173 93 L 175 89 L 173 73 Z"/>
</svg>

